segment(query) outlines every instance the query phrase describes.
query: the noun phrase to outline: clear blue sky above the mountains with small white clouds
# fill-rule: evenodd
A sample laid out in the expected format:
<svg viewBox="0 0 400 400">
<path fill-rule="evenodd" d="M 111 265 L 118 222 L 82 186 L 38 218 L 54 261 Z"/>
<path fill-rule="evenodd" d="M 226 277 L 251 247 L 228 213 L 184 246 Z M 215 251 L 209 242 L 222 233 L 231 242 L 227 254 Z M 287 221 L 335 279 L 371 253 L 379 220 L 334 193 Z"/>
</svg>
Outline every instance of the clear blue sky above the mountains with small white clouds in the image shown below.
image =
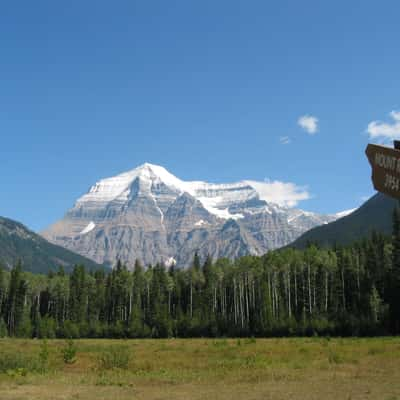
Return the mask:
<svg viewBox="0 0 400 400">
<path fill-rule="evenodd" d="M 333 213 L 400 137 L 397 1 L 0 4 L 0 215 L 41 230 L 150 162 Z M 284 185 L 290 183 L 291 185 Z M 277 189 L 278 190 L 278 189 Z"/>
</svg>

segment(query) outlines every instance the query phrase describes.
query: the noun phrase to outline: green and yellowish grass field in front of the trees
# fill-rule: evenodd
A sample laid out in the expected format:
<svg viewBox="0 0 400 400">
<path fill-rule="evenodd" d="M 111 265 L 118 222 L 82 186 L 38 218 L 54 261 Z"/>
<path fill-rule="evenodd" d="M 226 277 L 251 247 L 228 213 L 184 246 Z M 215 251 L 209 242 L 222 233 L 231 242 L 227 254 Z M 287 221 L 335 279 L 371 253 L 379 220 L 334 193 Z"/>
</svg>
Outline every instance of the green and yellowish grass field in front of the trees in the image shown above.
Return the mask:
<svg viewBox="0 0 400 400">
<path fill-rule="evenodd" d="M 1 339 L 0 399 L 400 400 L 400 338 L 74 344 Z"/>
</svg>

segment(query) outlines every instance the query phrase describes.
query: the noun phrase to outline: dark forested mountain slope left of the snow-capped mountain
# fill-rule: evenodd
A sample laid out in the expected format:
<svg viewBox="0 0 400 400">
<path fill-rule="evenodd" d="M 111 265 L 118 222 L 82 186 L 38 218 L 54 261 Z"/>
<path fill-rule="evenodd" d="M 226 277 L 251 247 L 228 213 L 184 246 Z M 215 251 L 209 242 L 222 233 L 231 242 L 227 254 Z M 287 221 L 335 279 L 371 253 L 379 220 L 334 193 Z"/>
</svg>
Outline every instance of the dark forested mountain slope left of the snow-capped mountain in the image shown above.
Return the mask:
<svg viewBox="0 0 400 400">
<path fill-rule="evenodd" d="M 19 222 L 0 217 L 0 265 L 11 268 L 21 260 L 23 269 L 46 273 L 63 266 L 66 271 L 75 264 L 89 269 L 103 268 L 92 260 L 63 247 L 49 243 Z"/>
</svg>

